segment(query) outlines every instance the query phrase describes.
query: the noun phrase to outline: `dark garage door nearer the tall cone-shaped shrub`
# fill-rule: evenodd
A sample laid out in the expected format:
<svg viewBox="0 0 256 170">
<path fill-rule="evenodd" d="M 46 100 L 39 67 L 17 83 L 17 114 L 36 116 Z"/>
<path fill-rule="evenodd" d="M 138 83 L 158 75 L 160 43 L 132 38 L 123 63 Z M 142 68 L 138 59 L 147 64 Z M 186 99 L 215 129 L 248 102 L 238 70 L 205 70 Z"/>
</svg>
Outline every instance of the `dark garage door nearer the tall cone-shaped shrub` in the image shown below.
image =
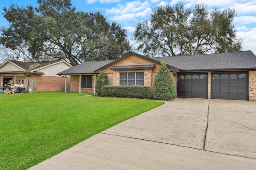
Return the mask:
<svg viewBox="0 0 256 170">
<path fill-rule="evenodd" d="M 208 73 L 178 74 L 179 98 L 208 98 Z"/>
</svg>

